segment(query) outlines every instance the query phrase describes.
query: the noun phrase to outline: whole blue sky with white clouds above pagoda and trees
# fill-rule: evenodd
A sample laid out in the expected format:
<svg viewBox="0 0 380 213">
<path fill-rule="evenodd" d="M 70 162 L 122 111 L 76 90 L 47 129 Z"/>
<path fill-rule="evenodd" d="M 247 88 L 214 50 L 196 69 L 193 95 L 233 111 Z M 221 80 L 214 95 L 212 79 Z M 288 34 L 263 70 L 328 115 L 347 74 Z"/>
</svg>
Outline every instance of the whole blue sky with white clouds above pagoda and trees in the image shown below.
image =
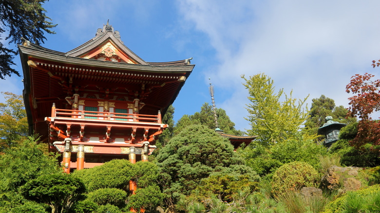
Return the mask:
<svg viewBox="0 0 380 213">
<path fill-rule="evenodd" d="M 377 0 L 51 0 L 44 4 L 57 27 L 43 47 L 67 52 L 109 23 L 124 44 L 148 62 L 193 57 L 196 64 L 173 106 L 174 120 L 211 103 L 236 128 L 249 129 L 241 75 L 264 72 L 307 103 L 322 94 L 348 107 L 345 86 L 356 73 L 379 69 L 380 1 Z M 16 69 L 22 73 L 19 57 Z M 22 94 L 22 77 L 0 81 L 0 91 Z M 3 100 L 3 99 L 0 99 Z"/>
</svg>

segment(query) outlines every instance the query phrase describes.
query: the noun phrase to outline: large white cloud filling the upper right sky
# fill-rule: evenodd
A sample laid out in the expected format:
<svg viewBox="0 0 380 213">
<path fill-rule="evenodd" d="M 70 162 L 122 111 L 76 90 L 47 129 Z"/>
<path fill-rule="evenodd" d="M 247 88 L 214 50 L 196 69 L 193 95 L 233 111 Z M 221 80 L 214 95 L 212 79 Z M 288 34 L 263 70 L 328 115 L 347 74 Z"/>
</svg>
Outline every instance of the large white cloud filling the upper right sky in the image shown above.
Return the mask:
<svg viewBox="0 0 380 213">
<path fill-rule="evenodd" d="M 294 97 L 310 93 L 311 103 L 324 94 L 347 106 L 350 77 L 372 71 L 371 60 L 380 58 L 379 7 L 379 1 L 188 0 L 180 11 L 209 36 L 219 66 L 207 75 L 216 89 L 232 90 L 221 107 L 245 128 L 241 74 L 265 72 Z"/>
</svg>

